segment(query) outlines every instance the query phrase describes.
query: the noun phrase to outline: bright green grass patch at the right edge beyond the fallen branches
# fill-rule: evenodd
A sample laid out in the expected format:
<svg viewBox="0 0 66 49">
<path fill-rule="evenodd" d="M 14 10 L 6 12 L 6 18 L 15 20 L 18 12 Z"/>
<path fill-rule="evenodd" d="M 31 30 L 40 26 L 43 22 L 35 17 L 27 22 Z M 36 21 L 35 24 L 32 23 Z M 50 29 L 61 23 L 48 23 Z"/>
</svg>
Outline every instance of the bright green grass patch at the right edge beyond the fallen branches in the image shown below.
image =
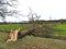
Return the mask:
<svg viewBox="0 0 66 49">
<path fill-rule="evenodd" d="M 59 30 L 54 32 L 54 35 L 62 35 L 62 36 L 66 36 L 66 24 L 57 24 L 55 26 L 56 28 L 58 28 Z"/>
</svg>

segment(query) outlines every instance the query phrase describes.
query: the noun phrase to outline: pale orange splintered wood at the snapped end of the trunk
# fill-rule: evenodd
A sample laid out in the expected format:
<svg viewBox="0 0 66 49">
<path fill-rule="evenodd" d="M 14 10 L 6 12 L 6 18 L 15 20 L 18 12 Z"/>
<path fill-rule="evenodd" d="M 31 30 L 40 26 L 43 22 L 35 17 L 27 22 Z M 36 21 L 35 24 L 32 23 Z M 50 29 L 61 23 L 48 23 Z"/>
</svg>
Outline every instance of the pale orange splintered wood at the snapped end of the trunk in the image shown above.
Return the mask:
<svg viewBox="0 0 66 49">
<path fill-rule="evenodd" d="M 15 29 L 15 30 L 11 29 L 10 35 L 9 35 L 9 39 L 7 40 L 7 42 L 8 41 L 16 41 L 19 34 L 20 34 L 20 28 Z"/>
</svg>

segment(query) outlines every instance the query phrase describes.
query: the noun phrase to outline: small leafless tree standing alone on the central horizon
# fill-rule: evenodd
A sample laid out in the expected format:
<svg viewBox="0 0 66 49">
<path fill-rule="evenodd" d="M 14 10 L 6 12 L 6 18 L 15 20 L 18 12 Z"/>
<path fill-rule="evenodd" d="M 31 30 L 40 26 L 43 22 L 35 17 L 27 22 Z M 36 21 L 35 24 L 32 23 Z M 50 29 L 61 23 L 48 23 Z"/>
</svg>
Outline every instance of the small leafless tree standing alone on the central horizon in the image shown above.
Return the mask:
<svg viewBox="0 0 66 49">
<path fill-rule="evenodd" d="M 33 25 L 33 28 L 35 27 L 35 21 L 37 21 L 41 16 L 37 15 L 35 12 L 32 11 L 32 9 L 30 9 L 30 13 L 28 14 L 28 17 L 30 20 L 30 22 Z"/>
</svg>

